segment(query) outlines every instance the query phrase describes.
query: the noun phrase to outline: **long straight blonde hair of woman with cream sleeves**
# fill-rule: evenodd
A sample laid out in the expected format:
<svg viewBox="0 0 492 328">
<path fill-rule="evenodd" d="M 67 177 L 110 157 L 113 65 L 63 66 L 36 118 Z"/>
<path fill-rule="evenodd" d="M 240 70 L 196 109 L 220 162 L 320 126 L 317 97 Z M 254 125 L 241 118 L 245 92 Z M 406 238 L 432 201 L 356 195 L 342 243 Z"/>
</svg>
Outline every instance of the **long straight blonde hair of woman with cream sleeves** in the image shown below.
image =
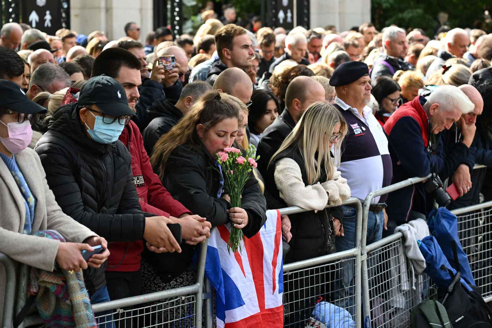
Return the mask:
<svg viewBox="0 0 492 328">
<path fill-rule="evenodd" d="M 330 156 L 328 140 L 331 138 L 337 123 L 340 123 L 340 132 L 342 134 L 338 138 L 338 143 L 334 145 L 334 155 L 337 160 L 334 164 Z M 347 123 L 337 108 L 324 101 L 316 102 L 304 112 L 292 132 L 272 156 L 268 165 L 272 164 L 272 161 L 280 152 L 294 146 L 300 150 L 304 159 L 307 182 L 309 184 L 316 183 L 321 178 L 321 163 L 324 164 L 327 179 L 331 180 L 335 174 L 334 165 L 338 166 L 340 164 L 340 145 L 346 134 Z M 325 135 L 326 138 L 323 140 Z M 315 158 L 316 152 L 318 153 L 317 158 Z"/>
</svg>

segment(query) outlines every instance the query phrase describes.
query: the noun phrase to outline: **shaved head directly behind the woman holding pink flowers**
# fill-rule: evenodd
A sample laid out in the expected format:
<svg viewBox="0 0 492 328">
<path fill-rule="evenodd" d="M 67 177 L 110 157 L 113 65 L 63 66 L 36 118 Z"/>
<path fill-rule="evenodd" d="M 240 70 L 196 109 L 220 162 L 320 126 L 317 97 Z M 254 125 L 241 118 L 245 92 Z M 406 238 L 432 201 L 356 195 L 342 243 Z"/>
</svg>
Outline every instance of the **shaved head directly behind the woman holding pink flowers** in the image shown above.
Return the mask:
<svg viewBox="0 0 492 328">
<path fill-rule="evenodd" d="M 233 95 L 247 104 L 253 93 L 253 84 L 245 71 L 237 67 L 231 67 L 217 76 L 214 90 L 221 90 Z"/>
</svg>

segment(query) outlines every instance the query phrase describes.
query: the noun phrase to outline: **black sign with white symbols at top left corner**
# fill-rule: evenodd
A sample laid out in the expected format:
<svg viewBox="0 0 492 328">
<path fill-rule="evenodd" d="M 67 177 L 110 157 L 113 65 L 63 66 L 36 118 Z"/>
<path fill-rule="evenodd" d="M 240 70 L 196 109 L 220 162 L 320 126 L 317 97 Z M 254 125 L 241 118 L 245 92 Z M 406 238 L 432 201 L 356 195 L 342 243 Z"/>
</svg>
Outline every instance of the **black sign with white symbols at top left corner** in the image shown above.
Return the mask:
<svg viewBox="0 0 492 328">
<path fill-rule="evenodd" d="M 69 1 L 24 0 L 22 21 L 48 35 L 55 35 L 57 30 L 70 28 Z"/>
</svg>

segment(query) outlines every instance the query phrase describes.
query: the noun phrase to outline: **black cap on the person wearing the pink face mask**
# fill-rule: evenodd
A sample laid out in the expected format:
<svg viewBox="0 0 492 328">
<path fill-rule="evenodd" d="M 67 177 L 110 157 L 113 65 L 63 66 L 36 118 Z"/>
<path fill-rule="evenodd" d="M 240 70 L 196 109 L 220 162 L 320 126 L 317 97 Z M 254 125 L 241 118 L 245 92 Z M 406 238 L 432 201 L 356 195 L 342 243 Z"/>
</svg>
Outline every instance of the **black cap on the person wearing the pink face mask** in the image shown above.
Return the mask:
<svg viewBox="0 0 492 328">
<path fill-rule="evenodd" d="M 29 100 L 26 92 L 24 92 L 18 84 L 0 80 L 0 107 L 8 108 L 24 114 L 46 113 L 46 108 L 39 106 L 35 102 Z"/>
</svg>

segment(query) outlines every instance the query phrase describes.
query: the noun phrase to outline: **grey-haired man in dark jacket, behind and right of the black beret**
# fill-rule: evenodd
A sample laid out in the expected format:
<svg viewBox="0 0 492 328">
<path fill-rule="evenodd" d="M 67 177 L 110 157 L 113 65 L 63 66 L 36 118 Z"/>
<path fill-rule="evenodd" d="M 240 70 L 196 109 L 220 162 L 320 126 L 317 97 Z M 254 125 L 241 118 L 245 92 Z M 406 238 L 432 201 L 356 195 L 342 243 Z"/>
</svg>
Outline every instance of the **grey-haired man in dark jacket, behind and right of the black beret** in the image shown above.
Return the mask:
<svg viewBox="0 0 492 328">
<path fill-rule="evenodd" d="M 398 70 L 413 69 L 413 66 L 403 60 L 408 50 L 408 42 L 405 38 L 405 30 L 396 26 L 390 26 L 383 32 L 384 53 L 374 60 L 374 65 L 370 71 L 370 81 L 372 86 L 380 76 L 393 77 Z"/>
</svg>

